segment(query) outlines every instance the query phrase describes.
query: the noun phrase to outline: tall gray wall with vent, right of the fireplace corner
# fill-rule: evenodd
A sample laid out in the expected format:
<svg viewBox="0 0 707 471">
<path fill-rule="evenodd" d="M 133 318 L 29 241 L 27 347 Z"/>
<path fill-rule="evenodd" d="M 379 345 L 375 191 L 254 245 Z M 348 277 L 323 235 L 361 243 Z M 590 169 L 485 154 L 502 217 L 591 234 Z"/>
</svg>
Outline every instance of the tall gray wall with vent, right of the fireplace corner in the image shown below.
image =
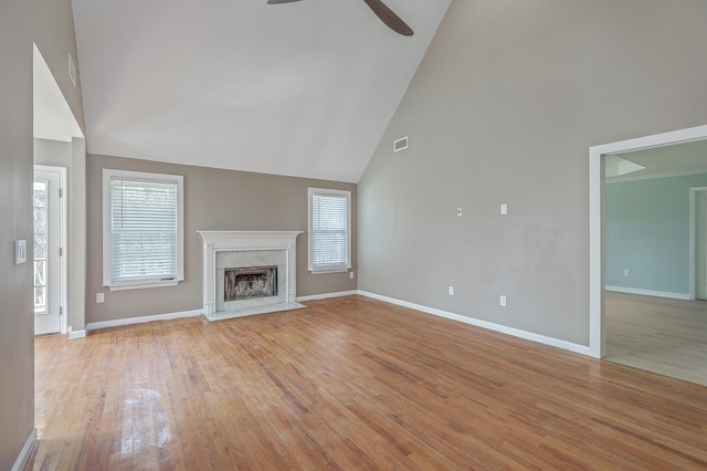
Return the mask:
<svg viewBox="0 0 707 471">
<path fill-rule="evenodd" d="M 359 287 L 589 345 L 589 147 L 707 123 L 705 23 L 703 0 L 454 0 L 359 182 Z"/>
</svg>

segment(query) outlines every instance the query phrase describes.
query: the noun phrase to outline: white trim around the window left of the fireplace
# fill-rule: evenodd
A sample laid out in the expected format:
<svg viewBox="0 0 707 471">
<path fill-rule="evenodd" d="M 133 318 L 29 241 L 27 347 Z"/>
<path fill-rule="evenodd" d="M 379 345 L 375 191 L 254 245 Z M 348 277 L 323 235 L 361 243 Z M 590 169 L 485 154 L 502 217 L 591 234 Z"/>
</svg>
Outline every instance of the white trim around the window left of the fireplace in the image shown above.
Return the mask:
<svg viewBox="0 0 707 471">
<path fill-rule="evenodd" d="M 166 281 L 113 283 L 110 276 L 112 232 L 110 232 L 110 180 L 114 177 L 177 182 L 177 278 Z M 184 177 L 181 175 L 151 174 L 145 171 L 103 169 L 103 285 L 110 291 L 141 290 L 146 287 L 176 286 L 184 281 Z"/>
</svg>

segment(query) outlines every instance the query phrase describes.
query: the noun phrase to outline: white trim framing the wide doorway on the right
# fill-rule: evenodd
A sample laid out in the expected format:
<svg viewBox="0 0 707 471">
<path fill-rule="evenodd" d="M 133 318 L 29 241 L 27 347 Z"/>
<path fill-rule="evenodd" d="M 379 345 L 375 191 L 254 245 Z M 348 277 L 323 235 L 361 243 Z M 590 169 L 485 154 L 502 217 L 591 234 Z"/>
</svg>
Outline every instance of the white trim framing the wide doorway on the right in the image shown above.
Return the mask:
<svg viewBox="0 0 707 471">
<path fill-rule="evenodd" d="M 589 350 L 605 354 L 604 311 L 604 156 L 707 139 L 707 125 L 621 140 L 589 148 Z"/>
</svg>

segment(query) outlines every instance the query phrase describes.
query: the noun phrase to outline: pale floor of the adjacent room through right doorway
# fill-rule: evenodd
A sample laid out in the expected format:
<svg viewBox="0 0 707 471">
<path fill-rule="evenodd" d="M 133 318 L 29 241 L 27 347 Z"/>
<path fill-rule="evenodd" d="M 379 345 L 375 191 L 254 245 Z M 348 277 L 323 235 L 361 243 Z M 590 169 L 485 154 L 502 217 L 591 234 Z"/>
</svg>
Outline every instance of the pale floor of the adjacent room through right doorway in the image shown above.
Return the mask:
<svg viewBox="0 0 707 471">
<path fill-rule="evenodd" d="M 707 302 L 606 292 L 606 359 L 707 386 Z"/>
</svg>

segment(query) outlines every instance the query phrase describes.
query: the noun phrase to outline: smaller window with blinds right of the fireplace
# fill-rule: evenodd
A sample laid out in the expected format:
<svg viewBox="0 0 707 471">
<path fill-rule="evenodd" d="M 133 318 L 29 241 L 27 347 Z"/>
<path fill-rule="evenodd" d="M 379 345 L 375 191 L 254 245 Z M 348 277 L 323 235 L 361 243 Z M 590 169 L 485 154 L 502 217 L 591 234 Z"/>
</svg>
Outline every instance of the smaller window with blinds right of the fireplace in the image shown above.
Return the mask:
<svg viewBox="0 0 707 471">
<path fill-rule="evenodd" d="M 351 192 L 309 188 L 309 271 L 351 268 Z"/>
</svg>

